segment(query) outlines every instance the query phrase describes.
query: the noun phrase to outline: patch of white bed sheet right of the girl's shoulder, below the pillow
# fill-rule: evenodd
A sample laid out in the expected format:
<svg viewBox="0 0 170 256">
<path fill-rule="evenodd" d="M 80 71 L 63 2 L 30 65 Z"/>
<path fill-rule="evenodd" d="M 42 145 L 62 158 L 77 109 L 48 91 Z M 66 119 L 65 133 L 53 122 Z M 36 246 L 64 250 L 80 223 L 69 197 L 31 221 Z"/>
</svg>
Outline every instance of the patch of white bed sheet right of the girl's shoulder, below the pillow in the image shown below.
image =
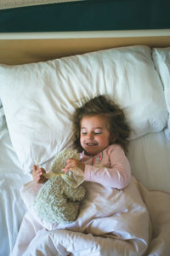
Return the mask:
<svg viewBox="0 0 170 256">
<path fill-rule="evenodd" d="M 133 176 L 147 189 L 170 194 L 170 141 L 163 131 L 131 141 L 128 159 Z"/>
</svg>

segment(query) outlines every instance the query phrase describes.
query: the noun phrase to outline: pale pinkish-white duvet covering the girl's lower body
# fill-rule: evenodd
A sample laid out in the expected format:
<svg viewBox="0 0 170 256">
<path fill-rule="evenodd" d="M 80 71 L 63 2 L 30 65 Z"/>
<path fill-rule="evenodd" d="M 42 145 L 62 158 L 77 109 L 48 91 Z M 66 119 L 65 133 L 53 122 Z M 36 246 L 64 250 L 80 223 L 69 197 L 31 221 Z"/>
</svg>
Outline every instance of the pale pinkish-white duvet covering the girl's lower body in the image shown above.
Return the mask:
<svg viewBox="0 0 170 256">
<path fill-rule="evenodd" d="M 32 207 L 36 190 L 22 189 L 29 207 L 13 256 L 163 255 L 170 253 L 170 195 L 145 189 L 135 178 L 126 189 L 86 183 L 77 221 L 48 224 Z"/>
</svg>

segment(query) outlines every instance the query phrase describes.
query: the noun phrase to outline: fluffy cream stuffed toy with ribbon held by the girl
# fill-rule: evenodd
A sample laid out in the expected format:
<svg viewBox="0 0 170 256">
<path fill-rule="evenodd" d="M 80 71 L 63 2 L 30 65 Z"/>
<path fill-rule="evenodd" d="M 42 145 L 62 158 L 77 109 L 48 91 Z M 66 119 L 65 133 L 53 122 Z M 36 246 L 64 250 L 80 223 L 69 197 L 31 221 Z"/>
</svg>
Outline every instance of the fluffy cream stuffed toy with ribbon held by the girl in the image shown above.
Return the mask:
<svg viewBox="0 0 170 256">
<path fill-rule="evenodd" d="M 75 221 L 85 195 L 82 171 L 75 168 L 71 170 L 74 172 L 62 172 L 68 158 L 79 159 L 79 155 L 76 150 L 65 148 L 56 156 L 51 172 L 44 174 L 48 181 L 38 190 L 34 201 L 38 216 L 49 223 Z"/>
</svg>

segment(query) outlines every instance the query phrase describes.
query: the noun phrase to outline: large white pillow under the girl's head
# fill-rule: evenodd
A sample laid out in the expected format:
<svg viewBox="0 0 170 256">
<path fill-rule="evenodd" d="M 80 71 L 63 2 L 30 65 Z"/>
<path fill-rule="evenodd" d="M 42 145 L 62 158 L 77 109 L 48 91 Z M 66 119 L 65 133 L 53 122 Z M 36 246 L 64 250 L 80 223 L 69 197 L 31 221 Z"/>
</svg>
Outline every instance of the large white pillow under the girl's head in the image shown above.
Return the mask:
<svg viewBox="0 0 170 256">
<path fill-rule="evenodd" d="M 99 95 L 111 96 L 123 108 L 132 127 L 130 139 L 167 125 L 161 80 L 147 46 L 0 67 L 8 131 L 26 172 L 36 160 L 45 166 L 62 148 L 71 147 L 75 107 Z"/>
</svg>

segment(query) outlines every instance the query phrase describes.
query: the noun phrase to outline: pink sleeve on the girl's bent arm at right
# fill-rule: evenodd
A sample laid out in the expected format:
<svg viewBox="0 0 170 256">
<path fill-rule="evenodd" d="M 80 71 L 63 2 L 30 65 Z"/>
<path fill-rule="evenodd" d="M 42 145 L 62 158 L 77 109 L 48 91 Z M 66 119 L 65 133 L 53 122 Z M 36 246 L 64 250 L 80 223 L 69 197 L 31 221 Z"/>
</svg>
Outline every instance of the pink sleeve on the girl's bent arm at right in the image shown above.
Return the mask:
<svg viewBox="0 0 170 256">
<path fill-rule="evenodd" d="M 86 181 L 100 183 L 105 187 L 124 189 L 131 180 L 130 165 L 121 147 L 117 146 L 108 155 L 111 167 L 85 165 Z"/>
</svg>

